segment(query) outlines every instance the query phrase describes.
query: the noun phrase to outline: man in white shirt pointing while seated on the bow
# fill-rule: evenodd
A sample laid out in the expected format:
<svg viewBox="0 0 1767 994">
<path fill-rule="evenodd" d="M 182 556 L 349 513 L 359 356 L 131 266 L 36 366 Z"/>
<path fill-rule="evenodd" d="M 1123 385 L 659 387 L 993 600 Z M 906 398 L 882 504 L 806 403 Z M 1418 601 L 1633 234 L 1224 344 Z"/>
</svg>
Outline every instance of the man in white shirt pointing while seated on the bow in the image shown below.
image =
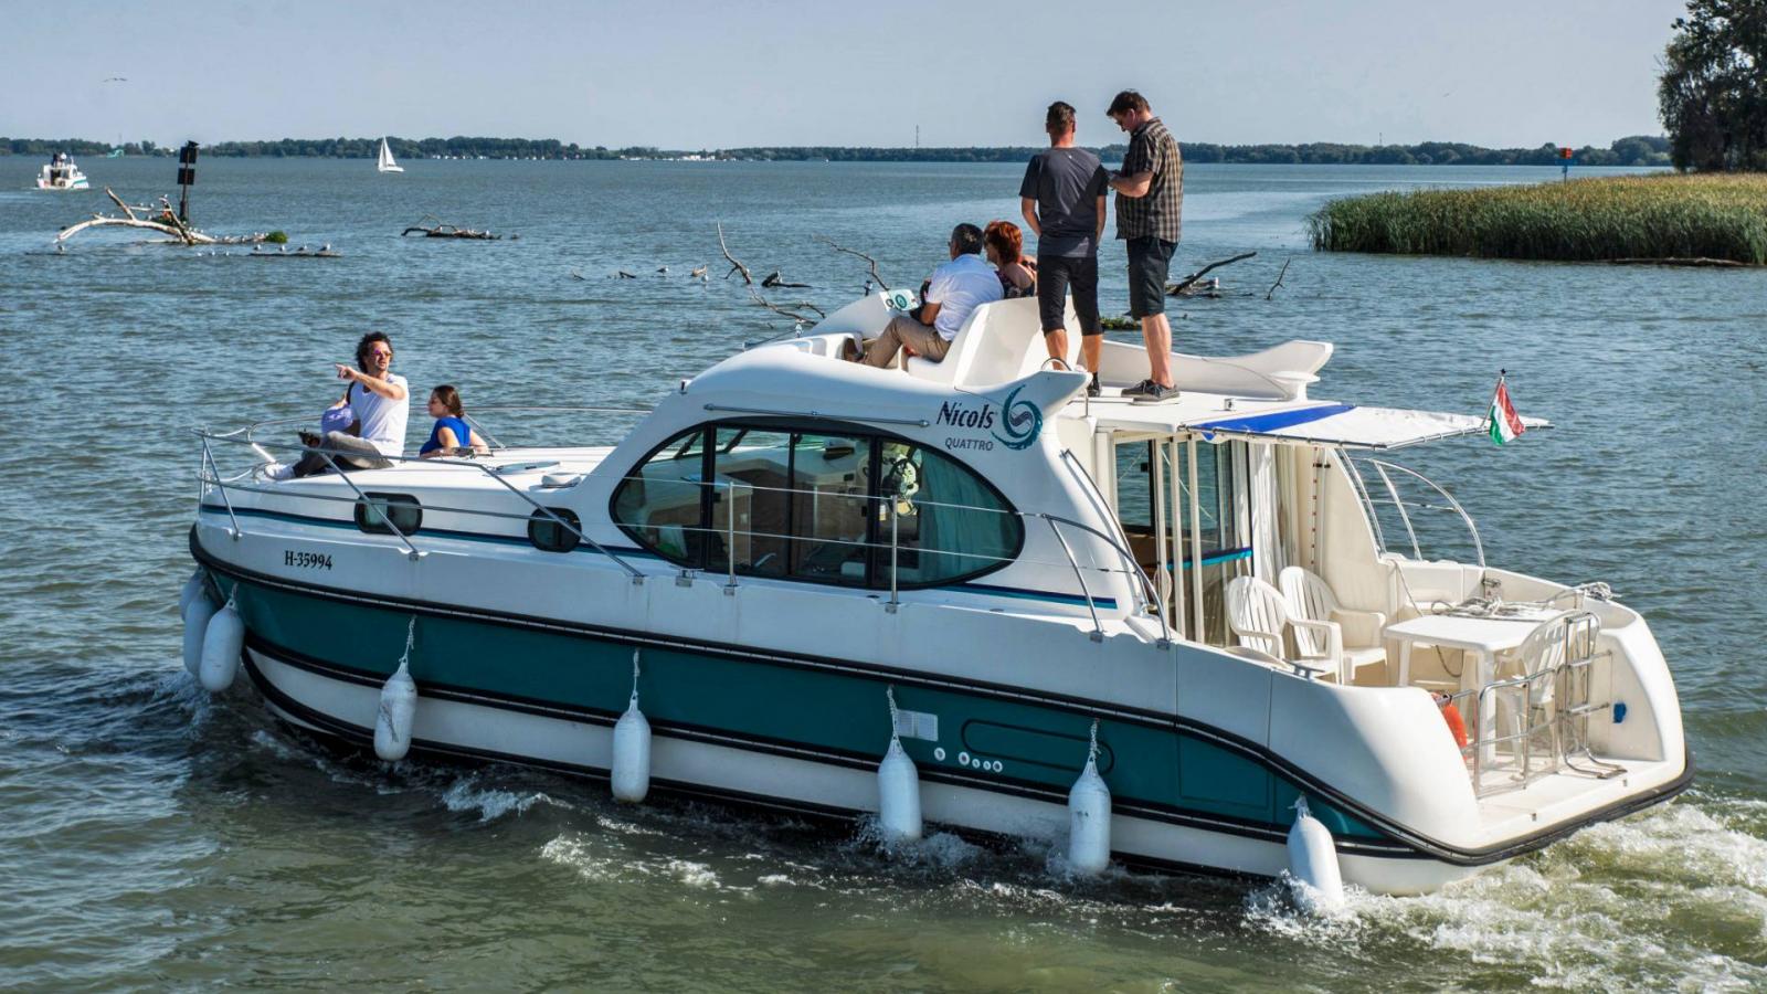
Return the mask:
<svg viewBox="0 0 1767 994">
<path fill-rule="evenodd" d="M 392 371 L 392 340 L 382 331 L 371 331 L 355 343 L 355 366 L 337 363 L 334 368 L 337 378 L 350 386 L 345 387 L 343 400 L 327 410 L 327 421 L 348 409 L 355 432 L 325 432 L 323 437 L 302 432 L 300 442 L 309 449 L 329 449 L 341 470 L 391 467 L 392 460 L 387 456 L 405 455 L 405 424 L 412 414 L 410 387 L 405 377 Z M 299 479 L 327 469 L 330 463 L 325 456 L 311 451 L 293 467 L 270 470 L 270 476 Z"/>
</svg>

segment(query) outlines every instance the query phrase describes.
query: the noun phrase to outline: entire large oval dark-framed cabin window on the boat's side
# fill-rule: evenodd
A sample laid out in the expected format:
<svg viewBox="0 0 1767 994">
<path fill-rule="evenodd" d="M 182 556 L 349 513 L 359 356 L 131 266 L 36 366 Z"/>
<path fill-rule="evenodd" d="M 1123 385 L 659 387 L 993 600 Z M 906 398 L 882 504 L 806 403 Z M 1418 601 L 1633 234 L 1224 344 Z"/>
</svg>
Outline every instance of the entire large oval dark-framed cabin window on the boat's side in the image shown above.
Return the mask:
<svg viewBox="0 0 1767 994">
<path fill-rule="evenodd" d="M 1005 499 L 899 439 L 726 423 L 661 446 L 620 483 L 613 520 L 687 568 L 887 589 L 951 584 L 1018 555 Z"/>
</svg>

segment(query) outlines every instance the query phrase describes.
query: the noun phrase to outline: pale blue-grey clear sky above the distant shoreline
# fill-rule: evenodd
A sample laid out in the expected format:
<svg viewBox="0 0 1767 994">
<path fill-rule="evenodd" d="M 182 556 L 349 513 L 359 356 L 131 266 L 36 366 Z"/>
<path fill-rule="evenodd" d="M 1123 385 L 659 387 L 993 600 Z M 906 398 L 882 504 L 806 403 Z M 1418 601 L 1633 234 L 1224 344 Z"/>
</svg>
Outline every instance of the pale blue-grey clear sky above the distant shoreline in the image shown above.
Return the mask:
<svg viewBox="0 0 1767 994">
<path fill-rule="evenodd" d="M 647 4 L 0 0 L 0 136 L 580 145 L 1120 140 L 1599 145 L 1659 134 L 1684 0 Z M 173 57 L 171 50 L 178 55 Z"/>
</svg>

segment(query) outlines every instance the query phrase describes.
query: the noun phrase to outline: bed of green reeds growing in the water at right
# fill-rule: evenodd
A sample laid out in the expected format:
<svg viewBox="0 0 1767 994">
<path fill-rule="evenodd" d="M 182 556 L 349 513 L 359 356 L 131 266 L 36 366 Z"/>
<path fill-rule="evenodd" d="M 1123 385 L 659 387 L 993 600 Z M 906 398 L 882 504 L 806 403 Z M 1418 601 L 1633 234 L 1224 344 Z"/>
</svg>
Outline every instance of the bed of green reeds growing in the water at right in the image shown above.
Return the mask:
<svg viewBox="0 0 1767 994">
<path fill-rule="evenodd" d="M 1767 173 L 1657 173 L 1332 200 L 1313 248 L 1573 262 L 1767 265 Z"/>
</svg>

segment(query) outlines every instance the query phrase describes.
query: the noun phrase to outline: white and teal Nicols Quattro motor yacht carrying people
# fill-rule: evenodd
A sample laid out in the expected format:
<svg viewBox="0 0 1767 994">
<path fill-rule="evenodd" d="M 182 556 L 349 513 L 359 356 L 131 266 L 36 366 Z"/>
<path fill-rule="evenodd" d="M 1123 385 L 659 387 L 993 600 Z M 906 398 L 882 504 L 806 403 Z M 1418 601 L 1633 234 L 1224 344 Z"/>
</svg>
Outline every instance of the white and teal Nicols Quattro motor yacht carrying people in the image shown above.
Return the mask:
<svg viewBox="0 0 1767 994">
<path fill-rule="evenodd" d="M 1306 799 L 1346 883 L 1431 891 L 1689 784 L 1643 617 L 1421 548 L 1387 451 L 1484 417 L 1313 400 L 1318 341 L 1175 356 L 1157 405 L 1106 343 L 1088 400 L 1034 301 L 938 364 L 839 359 L 889 317 L 732 356 L 615 446 L 277 481 L 267 428 L 203 432 L 193 614 L 230 601 L 320 736 L 373 741 L 403 661 L 413 753 L 604 778 L 641 709 L 650 787 L 792 812 L 878 812 L 899 743 L 929 824 L 1060 840 L 1096 750 L 1110 858 L 1159 870 L 1281 875 Z"/>
</svg>

